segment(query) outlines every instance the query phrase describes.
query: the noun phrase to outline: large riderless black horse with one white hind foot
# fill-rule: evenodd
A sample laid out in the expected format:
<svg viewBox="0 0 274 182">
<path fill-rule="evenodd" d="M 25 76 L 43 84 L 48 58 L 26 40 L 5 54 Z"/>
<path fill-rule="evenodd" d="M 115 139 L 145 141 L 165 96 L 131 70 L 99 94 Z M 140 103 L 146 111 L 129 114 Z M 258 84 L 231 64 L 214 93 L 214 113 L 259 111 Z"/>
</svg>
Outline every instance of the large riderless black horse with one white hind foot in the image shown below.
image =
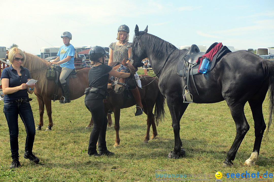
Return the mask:
<svg viewBox="0 0 274 182">
<path fill-rule="evenodd" d="M 130 57 L 134 62 L 141 62 L 148 57 L 153 71 L 158 74 L 158 86 L 167 101 L 175 138 L 175 147 L 168 155 L 169 158 L 179 158 L 184 152 L 181 149 L 182 141 L 179 134 L 180 120 L 189 103 L 183 103 L 182 94 L 185 83 L 183 77 L 177 74 L 177 63 L 185 51 L 177 49 L 155 35 L 148 34 L 147 28 L 139 31 L 136 25 Z M 262 137 L 266 129 L 262 103 L 268 90 L 270 114 L 266 133 L 272 122 L 274 62 L 266 61 L 252 52 L 239 50 L 224 55 L 213 70 L 205 74 L 195 74 L 193 77 L 199 93 L 190 79 L 189 91 L 193 95 L 193 102 L 216 103 L 226 100 L 235 121 L 236 137 L 223 166 L 233 165 L 232 160 L 235 159 L 237 150 L 249 130 L 249 124 L 244 115 L 244 105 L 249 102 L 255 125 L 255 142 L 253 152 L 245 164 L 254 165 L 258 160 Z"/>
</svg>

